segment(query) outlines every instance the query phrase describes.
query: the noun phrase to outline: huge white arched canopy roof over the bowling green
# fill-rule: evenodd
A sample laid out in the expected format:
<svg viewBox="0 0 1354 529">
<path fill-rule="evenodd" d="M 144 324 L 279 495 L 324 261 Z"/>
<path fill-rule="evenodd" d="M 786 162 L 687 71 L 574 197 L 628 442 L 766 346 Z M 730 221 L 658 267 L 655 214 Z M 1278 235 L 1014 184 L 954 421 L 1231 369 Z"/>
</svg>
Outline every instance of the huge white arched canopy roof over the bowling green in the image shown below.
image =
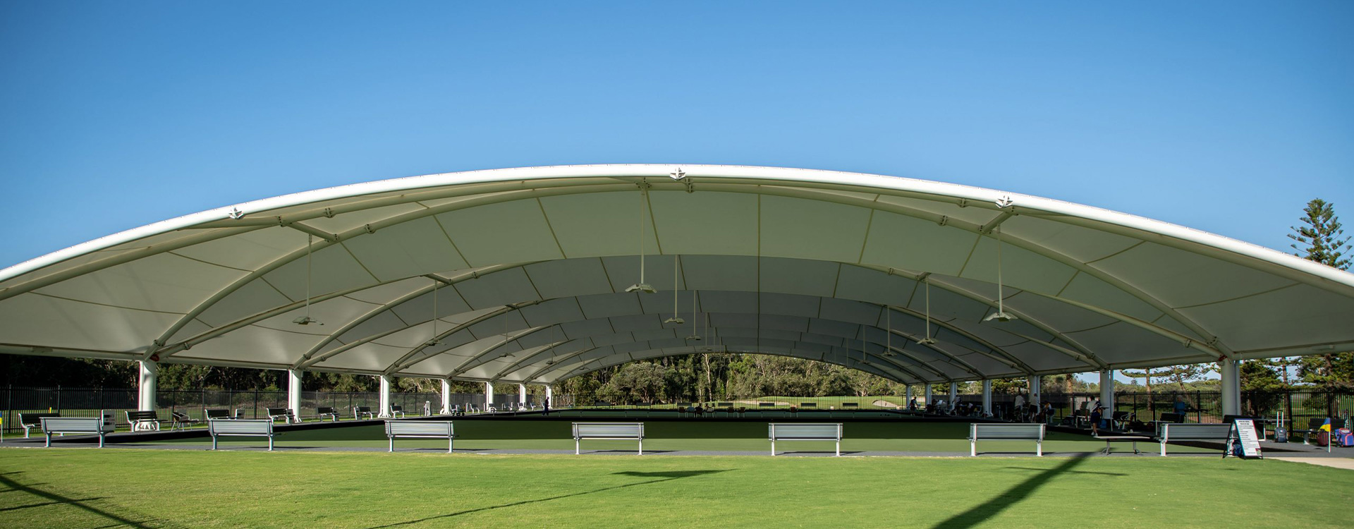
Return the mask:
<svg viewBox="0 0 1354 529">
<path fill-rule="evenodd" d="M 988 318 L 999 308 L 1013 319 Z M 383 180 L 0 271 L 0 352 L 523 383 L 704 350 L 906 383 L 1140 368 L 1346 349 L 1350 321 L 1354 275 L 1266 248 L 992 189 L 757 166 Z"/>
</svg>

